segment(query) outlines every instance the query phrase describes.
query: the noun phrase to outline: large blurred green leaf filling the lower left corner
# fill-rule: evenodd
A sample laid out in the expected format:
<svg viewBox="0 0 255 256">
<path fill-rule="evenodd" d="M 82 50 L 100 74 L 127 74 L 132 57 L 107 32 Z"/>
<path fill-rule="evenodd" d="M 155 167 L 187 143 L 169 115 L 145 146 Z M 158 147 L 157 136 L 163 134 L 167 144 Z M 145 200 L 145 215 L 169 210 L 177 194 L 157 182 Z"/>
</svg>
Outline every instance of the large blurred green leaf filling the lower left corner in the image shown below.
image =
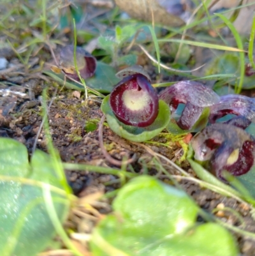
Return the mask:
<svg viewBox="0 0 255 256">
<path fill-rule="evenodd" d="M 45 206 L 43 187 L 50 189 L 55 211 L 63 222 L 69 200 L 62 182 L 50 156 L 36 151 L 29 163 L 23 144 L 0 139 L 1 255 L 34 256 L 51 243 L 56 232 Z"/>
</svg>

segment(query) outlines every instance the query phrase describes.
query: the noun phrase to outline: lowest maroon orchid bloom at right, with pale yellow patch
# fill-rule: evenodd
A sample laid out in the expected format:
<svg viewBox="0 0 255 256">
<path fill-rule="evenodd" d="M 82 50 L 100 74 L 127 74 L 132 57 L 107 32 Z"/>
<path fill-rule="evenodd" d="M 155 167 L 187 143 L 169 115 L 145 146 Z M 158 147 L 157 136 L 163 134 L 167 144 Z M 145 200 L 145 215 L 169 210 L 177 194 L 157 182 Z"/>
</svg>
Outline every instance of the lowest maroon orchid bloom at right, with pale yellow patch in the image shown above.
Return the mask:
<svg viewBox="0 0 255 256">
<path fill-rule="evenodd" d="M 209 169 L 224 181 L 222 171 L 234 176 L 249 172 L 254 164 L 255 140 L 242 128 L 231 124 L 212 124 L 191 140 L 194 158 L 209 162 Z"/>
</svg>

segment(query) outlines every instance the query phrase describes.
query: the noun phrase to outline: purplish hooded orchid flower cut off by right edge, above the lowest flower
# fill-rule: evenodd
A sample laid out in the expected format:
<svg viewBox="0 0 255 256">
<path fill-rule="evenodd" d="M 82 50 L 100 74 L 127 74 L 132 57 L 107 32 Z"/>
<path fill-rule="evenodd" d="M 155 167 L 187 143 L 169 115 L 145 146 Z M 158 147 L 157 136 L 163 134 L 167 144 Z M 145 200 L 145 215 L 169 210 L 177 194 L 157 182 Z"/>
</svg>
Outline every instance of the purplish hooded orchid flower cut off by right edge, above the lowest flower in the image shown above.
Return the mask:
<svg viewBox="0 0 255 256">
<path fill-rule="evenodd" d="M 228 94 L 221 96 L 219 103 L 210 107 L 210 123 L 227 114 L 243 116 L 252 122 L 255 122 L 255 99 L 244 95 Z"/>
</svg>

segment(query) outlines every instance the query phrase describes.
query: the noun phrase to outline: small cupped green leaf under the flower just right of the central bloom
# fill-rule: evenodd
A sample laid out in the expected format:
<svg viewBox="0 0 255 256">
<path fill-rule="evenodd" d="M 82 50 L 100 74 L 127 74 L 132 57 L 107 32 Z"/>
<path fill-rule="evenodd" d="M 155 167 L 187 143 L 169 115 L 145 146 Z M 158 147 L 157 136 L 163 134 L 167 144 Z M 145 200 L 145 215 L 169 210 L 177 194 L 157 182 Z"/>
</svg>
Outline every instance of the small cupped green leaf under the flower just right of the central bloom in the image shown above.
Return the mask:
<svg viewBox="0 0 255 256">
<path fill-rule="evenodd" d="M 205 128 L 205 126 L 207 126 L 209 115 L 210 115 L 210 109 L 208 107 L 205 107 L 205 109 L 203 109 L 203 112 L 200 118 L 198 119 L 198 121 L 196 121 L 196 123 L 194 124 L 193 128 L 191 128 L 191 130 L 182 130 L 177 125 L 175 119 L 170 120 L 170 122 L 168 123 L 168 126 L 166 127 L 166 130 L 168 130 L 168 132 L 170 132 L 173 135 L 184 135 L 191 132 L 200 132 L 203 128 Z"/>
</svg>

